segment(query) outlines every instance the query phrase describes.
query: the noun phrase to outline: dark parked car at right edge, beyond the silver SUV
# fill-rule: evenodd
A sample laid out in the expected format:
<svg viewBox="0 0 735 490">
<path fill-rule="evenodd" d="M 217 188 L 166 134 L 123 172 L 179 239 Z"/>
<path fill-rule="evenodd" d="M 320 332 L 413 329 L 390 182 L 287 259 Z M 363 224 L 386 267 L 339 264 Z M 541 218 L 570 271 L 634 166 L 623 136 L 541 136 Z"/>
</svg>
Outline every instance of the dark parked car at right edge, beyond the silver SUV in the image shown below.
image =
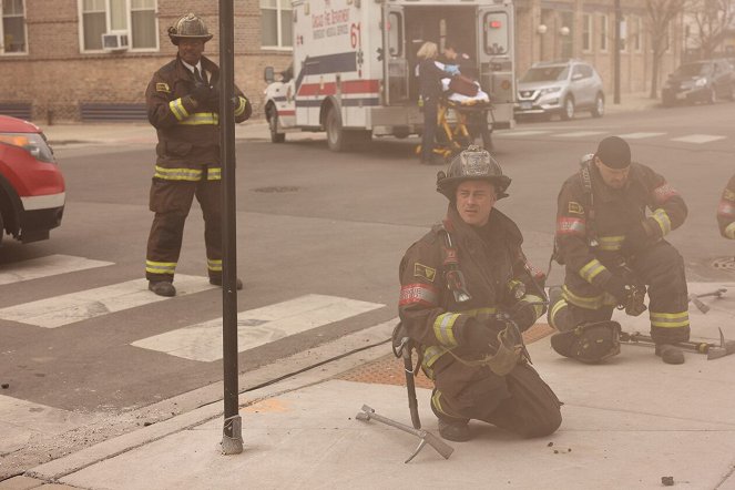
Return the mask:
<svg viewBox="0 0 735 490">
<path fill-rule="evenodd" d="M 735 99 L 733 65 L 726 60 L 702 60 L 682 64 L 668 75 L 661 91 L 664 105 L 677 102 L 715 103 Z"/>
</svg>

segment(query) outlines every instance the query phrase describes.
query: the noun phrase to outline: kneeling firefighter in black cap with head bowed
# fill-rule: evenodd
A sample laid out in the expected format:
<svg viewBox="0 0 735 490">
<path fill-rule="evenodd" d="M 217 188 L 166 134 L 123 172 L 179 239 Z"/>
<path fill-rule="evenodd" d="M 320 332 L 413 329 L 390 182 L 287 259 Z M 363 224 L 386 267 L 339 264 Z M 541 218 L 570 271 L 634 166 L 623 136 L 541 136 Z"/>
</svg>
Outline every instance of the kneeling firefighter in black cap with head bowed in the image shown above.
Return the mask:
<svg viewBox="0 0 735 490">
<path fill-rule="evenodd" d="M 565 265 L 562 288 L 550 289 L 551 345 L 562 356 L 599 363 L 620 353 L 613 308 L 649 316 L 655 354 L 682 364 L 674 344 L 690 337 L 684 261 L 663 237 L 686 218 L 686 205 L 665 178 L 631 163 L 627 143 L 610 136 L 559 193 L 554 257 Z M 646 208 L 651 211 L 646 216 Z"/>
</svg>

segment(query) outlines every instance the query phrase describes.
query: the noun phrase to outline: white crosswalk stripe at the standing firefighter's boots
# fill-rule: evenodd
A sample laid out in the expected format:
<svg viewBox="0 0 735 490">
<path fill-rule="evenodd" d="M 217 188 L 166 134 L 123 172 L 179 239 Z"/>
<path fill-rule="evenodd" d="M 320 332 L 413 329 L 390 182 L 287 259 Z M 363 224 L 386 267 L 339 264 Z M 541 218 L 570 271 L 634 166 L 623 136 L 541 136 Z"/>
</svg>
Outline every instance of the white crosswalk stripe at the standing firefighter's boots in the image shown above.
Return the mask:
<svg viewBox="0 0 735 490">
<path fill-rule="evenodd" d="M 174 284 L 177 296 L 216 287 L 212 286 L 206 277 L 183 274 L 176 274 Z M 0 318 L 37 327 L 57 328 L 164 299 L 170 298 L 156 296 L 147 289 L 147 280 L 134 279 L 2 308 Z"/>
</svg>

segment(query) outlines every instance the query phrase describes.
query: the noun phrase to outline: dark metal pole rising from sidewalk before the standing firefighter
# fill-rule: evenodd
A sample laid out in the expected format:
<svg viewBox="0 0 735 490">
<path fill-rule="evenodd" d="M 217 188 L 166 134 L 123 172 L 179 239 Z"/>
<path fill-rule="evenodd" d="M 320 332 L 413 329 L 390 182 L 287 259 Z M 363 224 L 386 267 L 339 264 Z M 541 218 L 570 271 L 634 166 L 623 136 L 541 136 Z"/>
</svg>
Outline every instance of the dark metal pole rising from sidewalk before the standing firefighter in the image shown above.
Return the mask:
<svg viewBox="0 0 735 490">
<path fill-rule="evenodd" d="M 225 421 L 222 452 L 243 452 L 237 387 L 237 227 L 235 215 L 235 11 L 220 0 L 220 160 L 222 161 L 222 365 Z"/>
</svg>

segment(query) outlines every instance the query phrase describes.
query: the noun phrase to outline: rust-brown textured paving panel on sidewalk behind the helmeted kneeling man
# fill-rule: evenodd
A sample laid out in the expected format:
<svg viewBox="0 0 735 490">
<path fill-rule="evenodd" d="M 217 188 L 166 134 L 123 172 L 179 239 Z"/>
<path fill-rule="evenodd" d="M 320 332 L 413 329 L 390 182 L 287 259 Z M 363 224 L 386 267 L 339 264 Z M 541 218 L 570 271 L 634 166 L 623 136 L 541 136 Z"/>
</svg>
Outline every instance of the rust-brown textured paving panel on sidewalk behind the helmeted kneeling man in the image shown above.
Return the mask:
<svg viewBox="0 0 735 490">
<path fill-rule="evenodd" d="M 535 324 L 523 333 L 523 340 L 525 344 L 531 344 L 552 333 L 554 333 L 554 329 L 549 325 Z M 389 349 L 389 347 L 386 348 Z M 416 358 L 417 356 L 415 353 L 414 363 L 416 363 Z M 397 359 L 392 354 L 387 354 L 371 363 L 358 366 L 347 372 L 343 372 L 338 378 L 348 381 L 406 386 L 404 359 Z M 423 372 L 419 372 L 416 377 L 416 386 L 418 388 L 433 387 L 432 382 L 423 376 Z"/>
</svg>

